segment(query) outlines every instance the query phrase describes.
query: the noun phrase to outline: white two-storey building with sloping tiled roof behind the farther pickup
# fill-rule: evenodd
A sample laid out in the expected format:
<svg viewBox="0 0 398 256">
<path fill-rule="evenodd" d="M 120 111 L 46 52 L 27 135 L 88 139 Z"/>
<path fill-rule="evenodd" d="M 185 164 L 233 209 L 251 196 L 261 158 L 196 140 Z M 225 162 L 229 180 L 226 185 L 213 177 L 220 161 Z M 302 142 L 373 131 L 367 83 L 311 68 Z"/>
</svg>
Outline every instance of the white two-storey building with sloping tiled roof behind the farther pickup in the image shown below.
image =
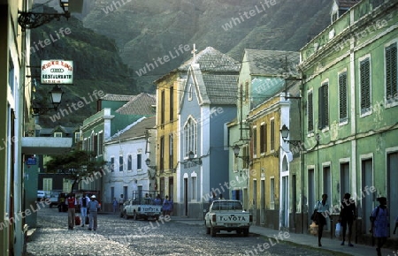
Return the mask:
<svg viewBox="0 0 398 256">
<path fill-rule="evenodd" d="M 149 150 L 148 130 L 155 127 L 155 122 L 155 117 L 142 117 L 105 140 L 103 159 L 111 169 L 103 180 L 105 207 L 111 207 L 112 199 L 119 200 L 120 194 L 127 200 L 137 192 L 153 190 L 155 174 L 145 160 Z"/>
</svg>

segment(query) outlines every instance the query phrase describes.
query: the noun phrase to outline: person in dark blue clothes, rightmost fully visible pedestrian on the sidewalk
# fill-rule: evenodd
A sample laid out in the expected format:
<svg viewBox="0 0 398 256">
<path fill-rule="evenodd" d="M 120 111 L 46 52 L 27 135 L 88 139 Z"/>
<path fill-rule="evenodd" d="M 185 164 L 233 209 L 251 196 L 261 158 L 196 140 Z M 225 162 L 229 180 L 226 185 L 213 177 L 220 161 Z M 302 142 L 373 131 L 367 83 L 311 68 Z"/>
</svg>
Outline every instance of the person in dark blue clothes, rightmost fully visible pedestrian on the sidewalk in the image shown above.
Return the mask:
<svg viewBox="0 0 398 256">
<path fill-rule="evenodd" d="M 375 207 L 371 212 L 371 232 L 377 240 L 376 251 L 381 255 L 381 247 L 387 241 L 388 235 L 388 210 L 387 198 L 379 197 L 379 207 Z"/>
</svg>

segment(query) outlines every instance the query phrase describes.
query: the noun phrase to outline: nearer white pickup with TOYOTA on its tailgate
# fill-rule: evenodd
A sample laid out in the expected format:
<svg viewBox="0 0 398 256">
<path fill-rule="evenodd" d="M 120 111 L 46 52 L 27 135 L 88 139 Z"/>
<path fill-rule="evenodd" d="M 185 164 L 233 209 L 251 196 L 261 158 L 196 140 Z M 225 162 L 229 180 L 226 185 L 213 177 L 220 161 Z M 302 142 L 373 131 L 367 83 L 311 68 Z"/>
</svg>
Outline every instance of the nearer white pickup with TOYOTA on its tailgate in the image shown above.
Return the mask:
<svg viewBox="0 0 398 256">
<path fill-rule="evenodd" d="M 253 215 L 243 210 L 239 200 L 215 200 L 204 217 L 206 234 L 211 237 L 215 237 L 220 230 L 235 230 L 237 234 L 243 233 L 247 237 L 251 222 Z"/>
</svg>

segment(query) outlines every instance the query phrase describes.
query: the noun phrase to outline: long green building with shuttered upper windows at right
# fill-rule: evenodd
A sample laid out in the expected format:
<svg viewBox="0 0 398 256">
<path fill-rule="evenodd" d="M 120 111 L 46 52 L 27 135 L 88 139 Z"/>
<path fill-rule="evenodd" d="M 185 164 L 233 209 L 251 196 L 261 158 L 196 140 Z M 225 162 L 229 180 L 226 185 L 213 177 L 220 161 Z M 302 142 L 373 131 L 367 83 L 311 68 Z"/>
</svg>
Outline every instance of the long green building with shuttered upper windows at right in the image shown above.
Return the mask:
<svg viewBox="0 0 398 256">
<path fill-rule="evenodd" d="M 363 0 L 301 49 L 308 213 L 327 193 L 337 218 L 349 192 L 358 243 L 370 239 L 378 197 L 387 197 L 390 223 L 398 215 L 397 7 L 397 1 Z"/>
</svg>

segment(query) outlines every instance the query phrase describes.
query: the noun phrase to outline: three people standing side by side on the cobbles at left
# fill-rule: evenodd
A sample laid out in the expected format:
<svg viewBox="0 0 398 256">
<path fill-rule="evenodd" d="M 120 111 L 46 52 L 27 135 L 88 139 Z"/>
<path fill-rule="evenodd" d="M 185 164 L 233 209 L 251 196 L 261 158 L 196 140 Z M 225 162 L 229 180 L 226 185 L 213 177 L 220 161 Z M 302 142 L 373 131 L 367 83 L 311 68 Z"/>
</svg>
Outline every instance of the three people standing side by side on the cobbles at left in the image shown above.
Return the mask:
<svg viewBox="0 0 398 256">
<path fill-rule="evenodd" d="M 79 202 L 78 202 L 79 201 Z M 81 227 L 84 227 L 86 218 L 88 217 L 88 230 L 96 230 L 97 228 L 97 214 L 101 207 L 96 200 L 96 195 L 88 198 L 86 193 L 77 200 L 74 193 L 69 193 L 65 200 L 65 205 L 68 207 L 68 230 L 73 230 L 76 219 L 76 207 L 80 205 L 80 222 Z"/>
</svg>

